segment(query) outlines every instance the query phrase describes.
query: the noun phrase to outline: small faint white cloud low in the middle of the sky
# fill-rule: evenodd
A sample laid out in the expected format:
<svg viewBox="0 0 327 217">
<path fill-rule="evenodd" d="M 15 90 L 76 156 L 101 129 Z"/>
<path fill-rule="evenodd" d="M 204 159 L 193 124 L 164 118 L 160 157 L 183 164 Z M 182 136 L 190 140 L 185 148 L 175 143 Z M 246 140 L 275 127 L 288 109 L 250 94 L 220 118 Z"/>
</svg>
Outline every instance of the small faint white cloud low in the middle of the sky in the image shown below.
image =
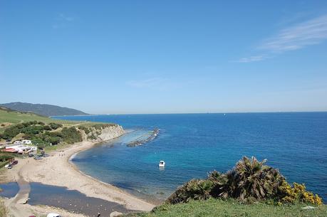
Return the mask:
<svg viewBox="0 0 327 217">
<path fill-rule="evenodd" d="M 155 90 L 170 90 L 178 87 L 177 83 L 174 83 L 167 78 L 147 78 L 144 80 L 129 80 L 126 83 L 132 88 L 149 88 Z"/>
</svg>

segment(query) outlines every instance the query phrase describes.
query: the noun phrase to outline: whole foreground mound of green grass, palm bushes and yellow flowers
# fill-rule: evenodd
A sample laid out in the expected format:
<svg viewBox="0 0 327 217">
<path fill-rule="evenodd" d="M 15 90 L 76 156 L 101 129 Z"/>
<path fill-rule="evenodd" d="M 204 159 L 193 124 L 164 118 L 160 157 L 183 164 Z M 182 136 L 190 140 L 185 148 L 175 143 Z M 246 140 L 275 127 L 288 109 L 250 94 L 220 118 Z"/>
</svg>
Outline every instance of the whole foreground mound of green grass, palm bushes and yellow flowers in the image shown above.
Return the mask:
<svg viewBox="0 0 327 217">
<path fill-rule="evenodd" d="M 243 157 L 225 174 L 212 171 L 207 179 L 188 181 L 150 213 L 128 216 L 327 216 L 317 194 L 304 184 L 291 186 L 265 163 Z"/>
</svg>

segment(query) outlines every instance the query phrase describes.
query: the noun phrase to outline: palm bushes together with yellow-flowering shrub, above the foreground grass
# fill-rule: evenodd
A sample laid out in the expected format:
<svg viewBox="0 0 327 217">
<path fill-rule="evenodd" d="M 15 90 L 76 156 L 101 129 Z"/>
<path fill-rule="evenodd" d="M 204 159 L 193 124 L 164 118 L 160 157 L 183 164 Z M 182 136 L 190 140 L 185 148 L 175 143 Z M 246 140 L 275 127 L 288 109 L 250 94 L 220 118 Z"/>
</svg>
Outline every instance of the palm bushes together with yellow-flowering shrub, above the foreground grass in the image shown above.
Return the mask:
<svg viewBox="0 0 327 217">
<path fill-rule="evenodd" d="M 234 168 L 225 174 L 212 171 L 207 179 L 192 179 L 181 186 L 167 203 L 187 203 L 194 200 L 236 199 L 241 203 L 266 202 L 311 203 L 321 205 L 322 199 L 306 191 L 304 184 L 291 186 L 278 169 L 259 162 L 255 157 L 243 157 Z"/>
</svg>

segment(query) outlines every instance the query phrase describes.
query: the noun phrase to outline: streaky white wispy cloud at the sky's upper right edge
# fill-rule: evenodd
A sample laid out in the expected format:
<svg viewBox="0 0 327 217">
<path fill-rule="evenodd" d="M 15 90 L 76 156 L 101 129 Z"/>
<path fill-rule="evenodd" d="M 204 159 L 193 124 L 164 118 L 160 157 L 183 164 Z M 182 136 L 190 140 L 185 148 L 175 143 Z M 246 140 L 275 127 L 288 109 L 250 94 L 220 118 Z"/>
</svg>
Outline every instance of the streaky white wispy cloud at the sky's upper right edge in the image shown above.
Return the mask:
<svg viewBox="0 0 327 217">
<path fill-rule="evenodd" d="M 293 26 L 281 29 L 275 36 L 263 40 L 256 51 L 265 52 L 265 55 L 252 55 L 240 58 L 239 63 L 250 63 L 266 59 L 267 55 L 276 55 L 286 51 L 295 51 L 306 46 L 321 43 L 327 38 L 327 15 L 296 23 Z"/>
</svg>

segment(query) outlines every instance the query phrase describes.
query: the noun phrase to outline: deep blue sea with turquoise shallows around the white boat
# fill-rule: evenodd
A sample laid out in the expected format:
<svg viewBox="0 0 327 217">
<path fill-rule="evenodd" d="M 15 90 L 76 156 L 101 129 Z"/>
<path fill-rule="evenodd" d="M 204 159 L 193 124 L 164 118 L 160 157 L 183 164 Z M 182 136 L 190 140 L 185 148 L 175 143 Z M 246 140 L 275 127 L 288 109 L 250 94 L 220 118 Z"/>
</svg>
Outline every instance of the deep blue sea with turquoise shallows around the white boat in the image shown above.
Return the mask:
<svg viewBox="0 0 327 217">
<path fill-rule="evenodd" d="M 53 117 L 115 122 L 135 131 L 77 154 L 74 164 L 101 181 L 144 198 L 165 199 L 177 186 L 227 171 L 246 155 L 268 159 L 290 182 L 327 201 L 327 112 Z M 125 144 L 154 128 L 140 147 Z M 165 169 L 158 163 L 165 160 Z"/>
</svg>

